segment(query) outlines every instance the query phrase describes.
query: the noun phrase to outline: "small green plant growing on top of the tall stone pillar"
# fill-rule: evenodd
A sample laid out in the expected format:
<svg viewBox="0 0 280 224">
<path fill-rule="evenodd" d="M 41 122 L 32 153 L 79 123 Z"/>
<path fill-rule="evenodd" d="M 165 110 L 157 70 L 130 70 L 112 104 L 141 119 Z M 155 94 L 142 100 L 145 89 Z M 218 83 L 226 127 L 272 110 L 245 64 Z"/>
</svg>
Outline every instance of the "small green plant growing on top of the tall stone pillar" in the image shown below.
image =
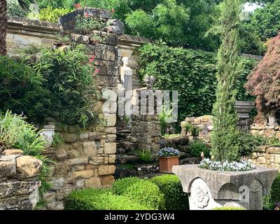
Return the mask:
<svg viewBox="0 0 280 224">
<path fill-rule="evenodd" d="M 78 16 L 75 22 L 75 31 L 79 34 L 91 34 L 94 30 L 100 30 L 104 27 L 104 22 L 97 18 Z"/>
</svg>

